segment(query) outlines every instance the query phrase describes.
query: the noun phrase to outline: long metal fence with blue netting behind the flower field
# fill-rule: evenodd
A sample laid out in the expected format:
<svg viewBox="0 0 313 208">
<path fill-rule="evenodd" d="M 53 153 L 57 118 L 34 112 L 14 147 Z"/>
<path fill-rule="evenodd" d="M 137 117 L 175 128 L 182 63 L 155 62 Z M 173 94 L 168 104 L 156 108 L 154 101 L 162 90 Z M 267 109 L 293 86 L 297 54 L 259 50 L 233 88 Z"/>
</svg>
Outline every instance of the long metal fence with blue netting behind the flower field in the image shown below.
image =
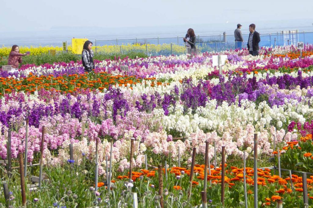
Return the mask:
<svg viewBox="0 0 313 208">
<path fill-rule="evenodd" d="M 243 34 L 244 42 L 242 47 L 247 47 L 249 34 Z M 297 44 L 298 42 L 313 43 L 313 32 L 281 31 L 280 33 L 260 34 L 259 46 L 275 47 Z M 129 52 L 141 52 L 146 55 L 170 55 L 186 53 L 183 37 L 175 38 L 134 38 L 97 40 L 94 42 L 95 53 L 126 54 Z M 200 36 L 196 38 L 196 47 L 200 52 L 222 51 L 235 49 L 236 42 L 234 35 L 226 33 L 213 36 Z"/>
</svg>

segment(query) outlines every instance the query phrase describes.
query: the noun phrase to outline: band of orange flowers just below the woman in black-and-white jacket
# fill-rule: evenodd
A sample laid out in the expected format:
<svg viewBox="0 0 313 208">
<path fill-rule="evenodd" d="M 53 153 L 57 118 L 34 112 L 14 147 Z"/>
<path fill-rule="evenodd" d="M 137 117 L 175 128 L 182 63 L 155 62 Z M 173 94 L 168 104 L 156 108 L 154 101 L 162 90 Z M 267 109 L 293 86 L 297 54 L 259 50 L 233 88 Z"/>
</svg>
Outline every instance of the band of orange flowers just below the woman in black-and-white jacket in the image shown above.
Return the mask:
<svg viewBox="0 0 313 208">
<path fill-rule="evenodd" d="M 152 80 L 151 86 L 154 87 L 154 80 L 156 78 L 145 78 L 144 80 Z M 106 72 L 100 72 L 97 74 L 69 74 L 54 77 L 50 74 L 48 76 L 37 77 L 32 73 L 26 78 L 21 78 L 19 81 L 14 78 L 0 78 L 0 89 L 4 90 L 4 93 L 11 93 L 14 91 L 26 91 L 33 93 L 36 90 L 45 89 L 64 93 L 73 93 L 79 89 L 99 89 L 103 90 L 108 88 L 109 85 L 115 86 L 130 86 L 141 83 L 141 78 L 136 76 L 117 75 L 113 76 Z M 145 81 L 146 84 L 146 81 Z M 162 85 L 161 82 L 156 82 L 156 85 Z M 165 83 L 164 85 L 169 85 Z M 3 94 L 1 91 L 0 95 Z"/>
</svg>

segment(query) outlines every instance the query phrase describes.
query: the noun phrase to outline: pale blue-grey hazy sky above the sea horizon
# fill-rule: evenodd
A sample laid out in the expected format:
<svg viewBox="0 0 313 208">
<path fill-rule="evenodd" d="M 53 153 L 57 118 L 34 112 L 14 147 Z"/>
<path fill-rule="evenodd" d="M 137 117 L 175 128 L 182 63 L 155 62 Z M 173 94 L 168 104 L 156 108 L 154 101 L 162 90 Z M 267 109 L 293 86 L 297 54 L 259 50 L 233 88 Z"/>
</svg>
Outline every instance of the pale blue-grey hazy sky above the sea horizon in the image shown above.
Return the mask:
<svg viewBox="0 0 313 208">
<path fill-rule="evenodd" d="M 128 28 L 310 19 L 313 1 L 1 0 L 0 34 L 60 28 Z M 312 24 L 311 24 L 312 26 Z"/>
</svg>

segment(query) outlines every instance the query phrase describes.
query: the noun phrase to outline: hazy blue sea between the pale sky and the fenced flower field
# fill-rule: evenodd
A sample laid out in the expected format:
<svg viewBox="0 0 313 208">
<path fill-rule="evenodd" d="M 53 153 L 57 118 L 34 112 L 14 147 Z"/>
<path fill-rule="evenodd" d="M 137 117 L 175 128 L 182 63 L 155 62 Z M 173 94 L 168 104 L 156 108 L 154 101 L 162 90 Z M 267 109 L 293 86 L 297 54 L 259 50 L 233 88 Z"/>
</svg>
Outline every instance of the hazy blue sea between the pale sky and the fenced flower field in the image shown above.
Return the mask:
<svg viewBox="0 0 313 208">
<path fill-rule="evenodd" d="M 298 30 L 299 32 L 312 32 L 305 37 L 305 42 L 313 43 L 313 19 L 309 20 L 275 20 L 255 23 L 256 31 L 261 35 L 265 33 L 276 34 L 283 30 Z M 243 25 L 242 33 L 248 34 L 248 22 L 240 23 Z M 237 23 L 208 23 L 208 24 L 194 24 L 194 25 L 171 25 L 171 26 L 154 26 L 154 27 L 128 27 L 128 28 L 101 28 L 101 27 L 52 27 L 49 30 L 41 31 L 0 31 L 0 46 L 12 46 L 17 44 L 19 46 L 62 46 L 63 41 L 71 44 L 71 39 L 88 38 L 92 42 L 97 39 L 97 45 L 135 43 L 152 43 L 156 44 L 157 39 L 139 40 L 140 38 L 158 38 L 159 43 L 177 43 L 177 36 L 179 43 L 182 43 L 187 29 L 193 28 L 196 35 L 200 36 L 215 36 L 203 39 L 219 39 L 220 35 L 223 38 L 223 32 L 226 32 L 228 41 L 233 41 L 233 31 Z M 301 36 L 302 37 L 302 36 Z M 164 39 L 163 39 L 164 38 Z M 168 39 L 167 39 L 168 38 Z M 121 41 L 121 39 L 130 39 Z M 247 38 L 244 38 L 247 39 Z M 102 41 L 101 41 L 102 40 Z M 110 40 L 110 41 L 103 41 Z M 95 44 L 95 43 L 94 43 Z"/>
</svg>

